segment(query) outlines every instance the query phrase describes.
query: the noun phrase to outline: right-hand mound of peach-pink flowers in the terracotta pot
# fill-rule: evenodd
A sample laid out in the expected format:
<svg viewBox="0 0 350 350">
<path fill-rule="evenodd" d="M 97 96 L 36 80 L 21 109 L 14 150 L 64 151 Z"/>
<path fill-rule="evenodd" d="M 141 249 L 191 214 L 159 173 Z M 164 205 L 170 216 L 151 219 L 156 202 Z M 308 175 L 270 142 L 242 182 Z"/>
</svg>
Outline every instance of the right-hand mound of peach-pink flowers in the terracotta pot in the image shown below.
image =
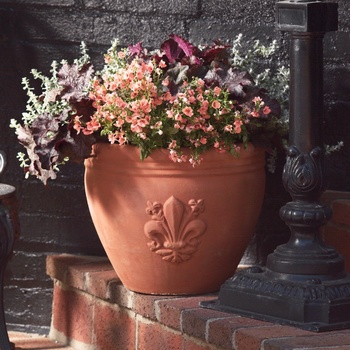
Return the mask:
<svg viewBox="0 0 350 350">
<path fill-rule="evenodd" d="M 200 163 L 200 154 L 208 146 L 220 152 L 236 152 L 236 143 L 242 142 L 246 134 L 245 125 L 264 105 L 262 100 L 254 99 L 252 108 L 246 105 L 243 109 L 229 98 L 227 90 L 207 87 L 202 79 L 185 82 L 180 91 L 168 106 L 167 115 L 181 133 L 174 135 L 168 148 L 172 160 L 181 162 L 187 159 L 180 147 L 190 147 L 193 152 L 189 162 L 193 165 Z"/>
</svg>

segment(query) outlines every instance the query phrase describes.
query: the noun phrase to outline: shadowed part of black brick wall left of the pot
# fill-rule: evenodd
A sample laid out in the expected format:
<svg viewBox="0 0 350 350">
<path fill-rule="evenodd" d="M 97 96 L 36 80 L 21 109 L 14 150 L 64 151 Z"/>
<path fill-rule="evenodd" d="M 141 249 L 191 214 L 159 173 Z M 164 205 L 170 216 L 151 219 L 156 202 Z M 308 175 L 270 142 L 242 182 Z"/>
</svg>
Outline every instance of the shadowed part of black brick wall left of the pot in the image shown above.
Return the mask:
<svg viewBox="0 0 350 350">
<path fill-rule="evenodd" d="M 16 159 L 23 149 L 9 123 L 25 110 L 22 77 L 34 67 L 47 73 L 54 58 L 70 59 L 79 53 L 79 42 L 45 39 L 54 34 L 45 18 L 32 16 L 25 6 L 0 5 L 0 150 L 7 157 L 0 182 L 17 189 L 21 227 L 6 272 L 4 305 L 10 329 L 40 333 L 48 332 L 51 320 L 52 281 L 46 275 L 46 255 L 104 255 L 86 204 L 83 166 L 68 166 L 52 186 L 45 187 L 34 178 L 24 179 Z"/>
</svg>

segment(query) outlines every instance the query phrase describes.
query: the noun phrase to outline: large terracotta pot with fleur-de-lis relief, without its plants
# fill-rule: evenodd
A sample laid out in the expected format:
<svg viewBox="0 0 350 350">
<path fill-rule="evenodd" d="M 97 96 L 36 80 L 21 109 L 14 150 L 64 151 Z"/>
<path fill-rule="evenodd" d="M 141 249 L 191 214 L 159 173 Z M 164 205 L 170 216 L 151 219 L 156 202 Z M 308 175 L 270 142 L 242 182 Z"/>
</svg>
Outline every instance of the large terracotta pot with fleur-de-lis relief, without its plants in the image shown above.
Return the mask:
<svg viewBox="0 0 350 350">
<path fill-rule="evenodd" d="M 249 145 L 236 158 L 206 152 L 200 166 L 167 150 L 140 160 L 134 146 L 96 144 L 85 187 L 102 245 L 125 287 L 147 294 L 217 291 L 254 232 L 265 157 Z"/>
</svg>

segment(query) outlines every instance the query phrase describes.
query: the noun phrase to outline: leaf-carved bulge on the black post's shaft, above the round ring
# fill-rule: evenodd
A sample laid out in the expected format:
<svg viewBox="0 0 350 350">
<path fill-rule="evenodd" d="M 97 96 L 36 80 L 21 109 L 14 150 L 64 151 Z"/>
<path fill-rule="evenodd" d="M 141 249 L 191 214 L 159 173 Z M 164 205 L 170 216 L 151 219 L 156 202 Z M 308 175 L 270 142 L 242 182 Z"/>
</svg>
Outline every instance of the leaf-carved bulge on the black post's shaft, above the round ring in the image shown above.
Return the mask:
<svg viewBox="0 0 350 350">
<path fill-rule="evenodd" d="M 308 154 L 301 153 L 296 146 L 288 149 L 282 179 L 293 199 L 318 195 L 323 189 L 322 158 L 320 147 L 315 147 Z"/>
</svg>

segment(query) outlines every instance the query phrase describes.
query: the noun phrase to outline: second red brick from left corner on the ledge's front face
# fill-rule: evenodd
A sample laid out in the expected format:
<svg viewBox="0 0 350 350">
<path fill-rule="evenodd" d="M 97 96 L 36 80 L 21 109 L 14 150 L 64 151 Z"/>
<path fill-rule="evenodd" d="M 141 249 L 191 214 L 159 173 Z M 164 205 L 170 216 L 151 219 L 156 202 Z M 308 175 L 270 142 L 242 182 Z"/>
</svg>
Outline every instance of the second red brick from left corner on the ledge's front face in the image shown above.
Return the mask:
<svg viewBox="0 0 350 350">
<path fill-rule="evenodd" d="M 117 305 L 97 301 L 94 309 L 94 348 L 134 350 L 135 317 L 135 314 Z"/>
</svg>

